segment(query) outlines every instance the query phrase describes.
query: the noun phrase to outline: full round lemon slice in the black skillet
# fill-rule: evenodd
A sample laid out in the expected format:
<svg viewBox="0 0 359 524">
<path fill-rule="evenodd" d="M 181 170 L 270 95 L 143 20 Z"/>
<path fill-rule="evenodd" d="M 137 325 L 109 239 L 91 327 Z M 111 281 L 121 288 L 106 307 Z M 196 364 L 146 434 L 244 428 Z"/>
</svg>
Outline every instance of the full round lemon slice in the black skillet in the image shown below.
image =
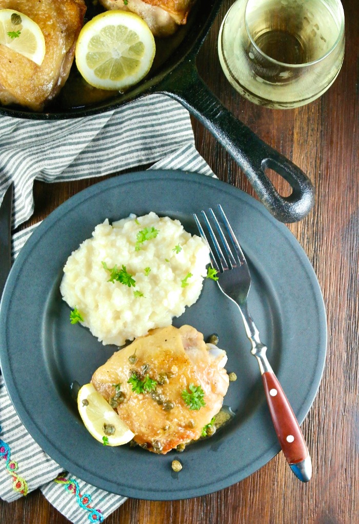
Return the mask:
<svg viewBox="0 0 359 524">
<path fill-rule="evenodd" d="M 95 88 L 121 90 L 142 80 L 156 45 L 146 22 L 121 10 L 97 15 L 81 29 L 75 59 L 83 78 Z"/>
</svg>

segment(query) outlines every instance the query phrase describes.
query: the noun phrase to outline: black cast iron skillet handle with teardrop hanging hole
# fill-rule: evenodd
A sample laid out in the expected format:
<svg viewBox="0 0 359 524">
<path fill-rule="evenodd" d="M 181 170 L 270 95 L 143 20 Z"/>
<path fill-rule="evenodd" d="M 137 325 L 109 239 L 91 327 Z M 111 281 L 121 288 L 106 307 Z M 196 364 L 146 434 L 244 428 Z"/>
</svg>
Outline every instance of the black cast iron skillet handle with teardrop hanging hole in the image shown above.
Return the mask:
<svg viewBox="0 0 359 524">
<path fill-rule="evenodd" d="M 182 62 L 156 91 L 178 100 L 212 133 L 238 163 L 259 199 L 281 222 L 298 222 L 314 205 L 314 188 L 295 164 L 257 137 L 227 110 L 199 77 L 194 59 Z M 273 169 L 292 188 L 281 196 L 264 170 Z"/>
</svg>

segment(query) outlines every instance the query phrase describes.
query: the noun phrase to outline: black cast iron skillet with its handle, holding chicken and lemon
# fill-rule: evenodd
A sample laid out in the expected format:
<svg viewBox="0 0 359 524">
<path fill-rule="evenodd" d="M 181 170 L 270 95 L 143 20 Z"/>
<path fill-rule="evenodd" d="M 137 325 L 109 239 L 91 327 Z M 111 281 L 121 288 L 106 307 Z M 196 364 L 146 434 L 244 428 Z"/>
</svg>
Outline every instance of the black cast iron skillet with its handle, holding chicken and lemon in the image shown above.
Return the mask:
<svg viewBox="0 0 359 524">
<path fill-rule="evenodd" d="M 89 3 L 90 4 L 90 3 Z M 198 0 L 188 22 L 188 30 L 170 57 L 149 76 L 125 94 L 116 94 L 90 106 L 48 107 L 44 113 L 0 107 L 0 114 L 32 119 L 64 119 L 99 114 L 154 92 L 178 100 L 210 130 L 244 171 L 259 199 L 281 222 L 297 222 L 314 204 L 314 189 L 306 174 L 295 164 L 260 140 L 235 118 L 198 75 L 195 57 L 218 13 L 221 0 Z M 89 7 L 90 9 L 90 7 Z M 69 81 L 68 81 L 69 82 Z M 57 102 L 58 104 L 58 102 Z M 270 168 L 289 182 L 292 193 L 283 197 L 266 177 Z"/>
</svg>

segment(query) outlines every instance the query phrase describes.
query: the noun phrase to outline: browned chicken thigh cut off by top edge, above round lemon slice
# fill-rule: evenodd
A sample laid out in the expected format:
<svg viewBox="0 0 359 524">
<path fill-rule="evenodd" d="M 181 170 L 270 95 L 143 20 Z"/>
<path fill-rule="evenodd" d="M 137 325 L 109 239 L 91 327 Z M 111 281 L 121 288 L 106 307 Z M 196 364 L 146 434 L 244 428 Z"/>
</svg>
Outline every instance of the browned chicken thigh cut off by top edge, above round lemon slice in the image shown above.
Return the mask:
<svg viewBox="0 0 359 524">
<path fill-rule="evenodd" d="M 194 0 L 100 0 L 106 9 L 132 11 L 145 20 L 155 36 L 172 35 L 186 24 Z"/>
</svg>

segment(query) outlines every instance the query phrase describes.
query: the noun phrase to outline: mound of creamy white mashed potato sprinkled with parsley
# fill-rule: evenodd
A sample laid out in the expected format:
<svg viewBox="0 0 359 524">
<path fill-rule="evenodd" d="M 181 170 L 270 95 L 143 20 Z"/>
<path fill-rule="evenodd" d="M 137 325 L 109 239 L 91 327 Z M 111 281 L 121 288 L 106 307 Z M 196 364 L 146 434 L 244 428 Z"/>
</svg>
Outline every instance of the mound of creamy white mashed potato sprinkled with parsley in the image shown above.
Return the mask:
<svg viewBox="0 0 359 524">
<path fill-rule="evenodd" d="M 95 227 L 68 258 L 60 291 L 99 341 L 122 346 L 197 301 L 209 262 L 208 247 L 178 220 L 130 215 Z M 109 281 L 116 271 L 122 282 Z"/>
</svg>

